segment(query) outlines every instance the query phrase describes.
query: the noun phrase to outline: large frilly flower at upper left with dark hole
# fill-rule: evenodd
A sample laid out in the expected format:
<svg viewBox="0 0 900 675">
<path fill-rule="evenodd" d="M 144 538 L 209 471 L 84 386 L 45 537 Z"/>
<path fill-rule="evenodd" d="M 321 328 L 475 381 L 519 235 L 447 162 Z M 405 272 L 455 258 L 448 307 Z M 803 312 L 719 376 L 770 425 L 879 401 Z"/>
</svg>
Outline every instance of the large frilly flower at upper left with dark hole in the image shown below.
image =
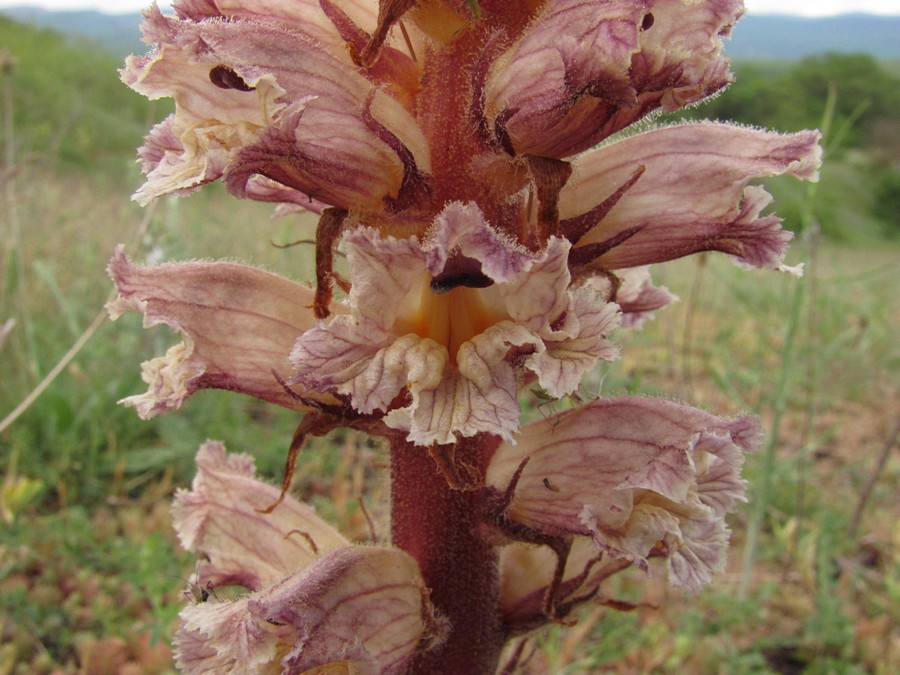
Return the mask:
<svg viewBox="0 0 900 675">
<path fill-rule="evenodd" d="M 403 167 L 362 119 L 359 104 L 369 96 L 370 108 L 396 122 L 407 147 L 421 147 L 427 157 L 405 108 L 341 58 L 343 41 L 318 3 L 297 3 L 299 12 L 292 4 L 268 3 L 265 9 L 275 14 L 262 16 L 238 7 L 227 21 L 215 3 L 176 2 L 181 19 L 155 5 L 148 10 L 144 37 L 156 48 L 130 57 L 123 78 L 150 98 L 172 96 L 177 107 L 141 150 L 149 180 L 139 201 L 193 190 L 241 165 L 265 164 L 290 135 L 296 152 L 292 166 L 280 170 L 308 179 L 294 199 L 321 193 L 328 203 L 378 203 L 398 189 Z"/>
</svg>

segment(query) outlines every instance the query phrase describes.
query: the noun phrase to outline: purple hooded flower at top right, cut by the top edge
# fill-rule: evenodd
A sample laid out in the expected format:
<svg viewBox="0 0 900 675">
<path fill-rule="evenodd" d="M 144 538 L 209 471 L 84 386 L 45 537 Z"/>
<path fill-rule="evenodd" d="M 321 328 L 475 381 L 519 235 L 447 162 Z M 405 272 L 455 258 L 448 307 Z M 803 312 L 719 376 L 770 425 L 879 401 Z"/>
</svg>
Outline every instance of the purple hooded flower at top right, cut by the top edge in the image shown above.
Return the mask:
<svg viewBox="0 0 900 675">
<path fill-rule="evenodd" d="M 739 0 L 546 3 L 493 64 L 489 119 L 518 154 L 564 158 L 731 81 L 722 36 Z"/>
</svg>

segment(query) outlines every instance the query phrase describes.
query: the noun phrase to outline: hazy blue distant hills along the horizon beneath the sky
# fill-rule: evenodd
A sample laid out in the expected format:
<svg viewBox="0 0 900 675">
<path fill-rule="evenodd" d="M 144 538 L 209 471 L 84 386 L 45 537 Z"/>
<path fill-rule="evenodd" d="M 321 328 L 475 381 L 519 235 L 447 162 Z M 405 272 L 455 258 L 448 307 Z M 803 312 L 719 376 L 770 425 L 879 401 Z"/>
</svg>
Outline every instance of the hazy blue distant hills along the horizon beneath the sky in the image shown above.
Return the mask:
<svg viewBox="0 0 900 675">
<path fill-rule="evenodd" d="M 51 12 L 34 7 L 0 9 L 0 14 L 42 28 L 96 41 L 118 56 L 143 53 L 140 15 L 93 11 Z M 727 47 L 736 60 L 800 59 L 822 52 L 866 53 L 900 59 L 900 16 L 847 14 L 823 19 L 794 16 L 745 17 Z"/>
</svg>

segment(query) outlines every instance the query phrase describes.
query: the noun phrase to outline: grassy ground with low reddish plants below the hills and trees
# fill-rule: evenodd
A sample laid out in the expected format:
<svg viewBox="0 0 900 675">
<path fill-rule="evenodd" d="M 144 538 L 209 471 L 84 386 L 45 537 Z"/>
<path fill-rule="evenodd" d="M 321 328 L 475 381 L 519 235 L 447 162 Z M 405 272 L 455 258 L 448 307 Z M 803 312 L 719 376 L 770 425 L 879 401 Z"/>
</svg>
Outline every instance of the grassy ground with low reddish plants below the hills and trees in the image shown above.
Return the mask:
<svg viewBox="0 0 900 675">
<path fill-rule="evenodd" d="M 4 318 L 17 325 L 2 346 L 4 411 L 99 310 L 110 289 L 105 259 L 145 216 L 89 178 L 38 178 L 25 172 L 17 181 L 26 264 L 5 295 Z M 309 226 L 268 213 L 217 190 L 163 202 L 131 250 L 239 257 L 305 276 L 309 251 L 270 240 L 303 237 Z M 539 642 L 535 672 L 900 668 L 900 462 L 894 452 L 880 463 L 900 409 L 898 253 L 890 241 L 800 241 L 794 259 L 808 263 L 800 281 L 715 256 L 657 270 L 682 301 L 620 334 L 623 359 L 583 395 L 639 392 L 722 414 L 754 411 L 770 429 L 780 420 L 778 437 L 771 455 L 748 463 L 753 499 L 733 518 L 729 570 L 712 588 L 685 597 L 661 575 L 623 575 L 604 593 L 640 608 L 597 606 L 577 626 L 552 631 Z M 102 325 L 0 436 L 0 673 L 167 672 L 167 641 L 188 601 L 179 578 L 194 564 L 170 532 L 168 502 L 189 483 L 196 447 L 223 439 L 279 479 L 296 423 L 288 413 L 212 392 L 150 423 L 115 405 L 142 390 L 139 362 L 173 340 L 164 328 L 143 331 L 136 316 Z M 546 406 L 535 401 L 533 414 Z M 379 447 L 326 439 L 304 454 L 296 489 L 363 539 L 356 498 L 378 511 L 384 464 Z"/>
</svg>

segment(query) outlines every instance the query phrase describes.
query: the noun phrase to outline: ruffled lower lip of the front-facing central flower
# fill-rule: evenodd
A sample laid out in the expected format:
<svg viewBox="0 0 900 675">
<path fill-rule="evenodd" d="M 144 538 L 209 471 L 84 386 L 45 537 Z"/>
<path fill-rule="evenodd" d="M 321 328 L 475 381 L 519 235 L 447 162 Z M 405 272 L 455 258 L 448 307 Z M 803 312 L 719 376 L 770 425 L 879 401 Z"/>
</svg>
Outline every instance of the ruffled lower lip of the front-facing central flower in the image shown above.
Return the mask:
<svg viewBox="0 0 900 675">
<path fill-rule="evenodd" d="M 406 334 L 373 340 L 377 328 L 356 329 L 338 317 L 298 340 L 292 362 L 297 379 L 317 391 L 350 396 L 364 414 L 388 411 L 407 387 L 411 403 L 391 410 L 385 423 L 408 432 L 418 445 L 453 443 L 456 435 L 495 433 L 512 442 L 518 428 L 517 380 L 506 357 L 514 347 L 534 347 L 536 338 L 514 324 L 492 326 L 464 343 L 457 367 L 434 340 Z"/>
</svg>

